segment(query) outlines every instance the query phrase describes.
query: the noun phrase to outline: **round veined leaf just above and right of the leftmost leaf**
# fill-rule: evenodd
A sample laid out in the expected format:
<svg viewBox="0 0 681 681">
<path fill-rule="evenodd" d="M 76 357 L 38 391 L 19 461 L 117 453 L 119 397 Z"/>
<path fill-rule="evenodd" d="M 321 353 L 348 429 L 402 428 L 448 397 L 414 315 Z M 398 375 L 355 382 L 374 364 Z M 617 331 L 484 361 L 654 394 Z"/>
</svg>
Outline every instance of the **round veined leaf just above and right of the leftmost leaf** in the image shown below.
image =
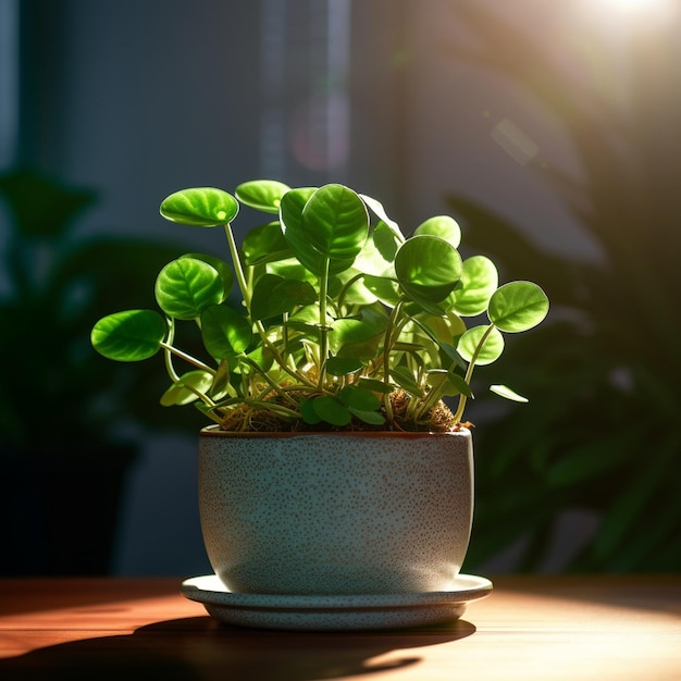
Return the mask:
<svg viewBox="0 0 681 681">
<path fill-rule="evenodd" d="M 218 270 L 196 258 L 169 262 L 156 281 L 159 307 L 175 319 L 196 319 L 201 310 L 222 302 L 224 297 L 224 284 Z"/>
</svg>

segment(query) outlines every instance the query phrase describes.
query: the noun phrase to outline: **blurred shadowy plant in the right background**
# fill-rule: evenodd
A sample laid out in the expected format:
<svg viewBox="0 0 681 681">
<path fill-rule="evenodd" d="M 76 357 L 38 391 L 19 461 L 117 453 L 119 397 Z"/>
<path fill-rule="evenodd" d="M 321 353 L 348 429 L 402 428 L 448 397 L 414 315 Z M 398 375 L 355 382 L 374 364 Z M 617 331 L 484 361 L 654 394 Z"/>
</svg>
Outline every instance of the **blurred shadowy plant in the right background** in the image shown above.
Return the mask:
<svg viewBox="0 0 681 681">
<path fill-rule="evenodd" d="M 593 261 L 562 256 L 488 205 L 449 196 L 468 245 L 504 277 L 541 282 L 553 306 L 498 363 L 500 381 L 522 385 L 531 405 L 475 431 L 476 449 L 494 456 L 479 459 L 467 568 L 505 546 L 511 569 L 541 570 L 572 517 L 590 529 L 564 569 L 678 570 L 681 89 L 669 88 L 678 23 L 630 26 L 623 63 L 608 74 L 622 102 L 596 78 L 571 78 L 570 55 L 527 26 L 472 2 L 456 12 L 479 42 L 449 55 L 511 79 L 567 133 L 582 179 L 533 163 L 600 251 Z M 590 39 L 580 34 L 583 47 Z"/>
</svg>

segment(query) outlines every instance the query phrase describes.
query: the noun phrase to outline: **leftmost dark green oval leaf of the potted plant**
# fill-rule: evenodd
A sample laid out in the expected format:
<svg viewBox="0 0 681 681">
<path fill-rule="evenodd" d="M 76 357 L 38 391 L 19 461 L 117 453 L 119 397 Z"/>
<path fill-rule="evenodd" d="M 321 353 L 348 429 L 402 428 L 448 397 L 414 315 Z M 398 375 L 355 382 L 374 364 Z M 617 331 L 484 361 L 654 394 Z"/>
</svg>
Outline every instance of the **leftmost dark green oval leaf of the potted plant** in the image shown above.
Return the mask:
<svg viewBox="0 0 681 681">
<path fill-rule="evenodd" d="M 156 355 L 168 333 L 165 320 L 153 310 L 125 310 L 100 319 L 90 333 L 92 347 L 103 357 L 136 362 Z"/>
</svg>

